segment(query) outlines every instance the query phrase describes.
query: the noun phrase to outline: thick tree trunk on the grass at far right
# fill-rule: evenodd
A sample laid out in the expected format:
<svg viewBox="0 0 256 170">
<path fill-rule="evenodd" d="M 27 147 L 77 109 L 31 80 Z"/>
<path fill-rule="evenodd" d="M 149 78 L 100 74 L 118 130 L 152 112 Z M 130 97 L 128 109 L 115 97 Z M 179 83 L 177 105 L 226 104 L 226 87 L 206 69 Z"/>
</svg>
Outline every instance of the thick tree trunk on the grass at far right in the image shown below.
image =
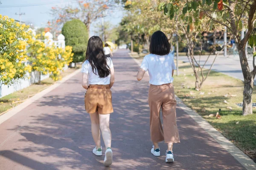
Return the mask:
<svg viewBox="0 0 256 170">
<path fill-rule="evenodd" d="M 247 62 L 245 49 L 241 46 L 239 48 L 239 58 L 244 76 L 243 115 L 246 116 L 249 114 L 253 114 L 252 95 L 254 76 L 253 73 L 250 73 L 250 68 Z"/>
</svg>

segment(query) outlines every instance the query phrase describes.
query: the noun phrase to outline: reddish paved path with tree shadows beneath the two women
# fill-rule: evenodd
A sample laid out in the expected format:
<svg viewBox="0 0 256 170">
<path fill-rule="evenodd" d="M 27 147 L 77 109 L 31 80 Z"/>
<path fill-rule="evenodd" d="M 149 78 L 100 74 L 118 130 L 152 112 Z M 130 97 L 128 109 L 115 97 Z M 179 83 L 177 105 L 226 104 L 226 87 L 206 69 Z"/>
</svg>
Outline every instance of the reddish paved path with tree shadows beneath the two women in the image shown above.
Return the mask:
<svg viewBox="0 0 256 170">
<path fill-rule="evenodd" d="M 175 162 L 165 163 L 163 143 L 162 156 L 152 156 L 148 77 L 136 81 L 138 65 L 125 50 L 114 54 L 113 63 L 111 167 L 104 168 L 104 157 L 92 153 L 90 117 L 77 74 L 0 125 L 0 170 L 244 170 L 179 107 Z"/>
</svg>

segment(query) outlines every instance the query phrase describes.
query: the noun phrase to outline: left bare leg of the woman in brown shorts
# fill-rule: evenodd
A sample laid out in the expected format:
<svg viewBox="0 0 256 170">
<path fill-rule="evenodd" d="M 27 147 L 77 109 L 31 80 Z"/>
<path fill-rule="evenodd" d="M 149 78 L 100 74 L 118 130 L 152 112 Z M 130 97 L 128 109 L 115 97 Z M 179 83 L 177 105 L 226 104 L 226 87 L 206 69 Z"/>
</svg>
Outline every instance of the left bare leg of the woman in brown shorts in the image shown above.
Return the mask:
<svg viewBox="0 0 256 170">
<path fill-rule="evenodd" d="M 95 112 L 90 114 L 91 123 L 92 123 L 92 135 L 93 140 L 96 144 L 96 149 L 99 149 L 100 146 L 100 130 L 99 130 L 99 113 Z"/>
</svg>

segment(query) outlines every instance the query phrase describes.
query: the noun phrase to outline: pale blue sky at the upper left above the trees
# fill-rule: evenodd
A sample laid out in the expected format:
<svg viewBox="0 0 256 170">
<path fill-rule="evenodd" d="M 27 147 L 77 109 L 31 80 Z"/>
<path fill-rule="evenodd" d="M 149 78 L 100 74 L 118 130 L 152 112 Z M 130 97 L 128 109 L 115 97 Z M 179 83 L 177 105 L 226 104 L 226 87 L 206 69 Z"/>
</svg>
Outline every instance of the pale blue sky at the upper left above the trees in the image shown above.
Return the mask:
<svg viewBox="0 0 256 170">
<path fill-rule="evenodd" d="M 26 23 L 32 23 L 36 27 L 45 27 L 47 22 L 52 20 L 50 15 L 50 10 L 53 6 L 67 6 L 76 3 L 75 0 L 0 0 L 2 4 L 0 5 L 0 14 L 7 15 L 15 20 L 20 20 L 19 14 L 25 13 L 21 16 L 21 20 Z M 31 5 L 40 6 L 31 6 Z M 30 6 L 26 6 L 30 5 Z M 3 8 L 4 6 L 15 6 L 11 8 Z M 23 7 L 16 7 L 23 6 Z M 105 21 L 111 21 L 113 25 L 117 25 L 122 20 L 122 9 L 116 8 L 111 16 L 105 17 Z M 101 21 L 96 21 L 99 23 Z M 94 27 L 96 23 L 93 23 L 90 28 L 90 35 L 94 34 Z"/>
</svg>

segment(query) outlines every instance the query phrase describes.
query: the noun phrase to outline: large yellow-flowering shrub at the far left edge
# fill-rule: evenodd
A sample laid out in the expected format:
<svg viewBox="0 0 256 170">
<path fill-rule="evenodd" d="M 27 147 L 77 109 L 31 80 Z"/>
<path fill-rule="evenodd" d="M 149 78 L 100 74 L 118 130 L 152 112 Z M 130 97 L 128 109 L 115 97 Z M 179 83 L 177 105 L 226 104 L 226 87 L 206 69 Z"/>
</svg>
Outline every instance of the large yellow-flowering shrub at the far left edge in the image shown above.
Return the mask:
<svg viewBox="0 0 256 170">
<path fill-rule="evenodd" d="M 0 86 L 10 85 L 15 79 L 26 78 L 31 66 L 26 65 L 26 46 L 32 41 L 29 26 L 0 15 Z"/>
</svg>

